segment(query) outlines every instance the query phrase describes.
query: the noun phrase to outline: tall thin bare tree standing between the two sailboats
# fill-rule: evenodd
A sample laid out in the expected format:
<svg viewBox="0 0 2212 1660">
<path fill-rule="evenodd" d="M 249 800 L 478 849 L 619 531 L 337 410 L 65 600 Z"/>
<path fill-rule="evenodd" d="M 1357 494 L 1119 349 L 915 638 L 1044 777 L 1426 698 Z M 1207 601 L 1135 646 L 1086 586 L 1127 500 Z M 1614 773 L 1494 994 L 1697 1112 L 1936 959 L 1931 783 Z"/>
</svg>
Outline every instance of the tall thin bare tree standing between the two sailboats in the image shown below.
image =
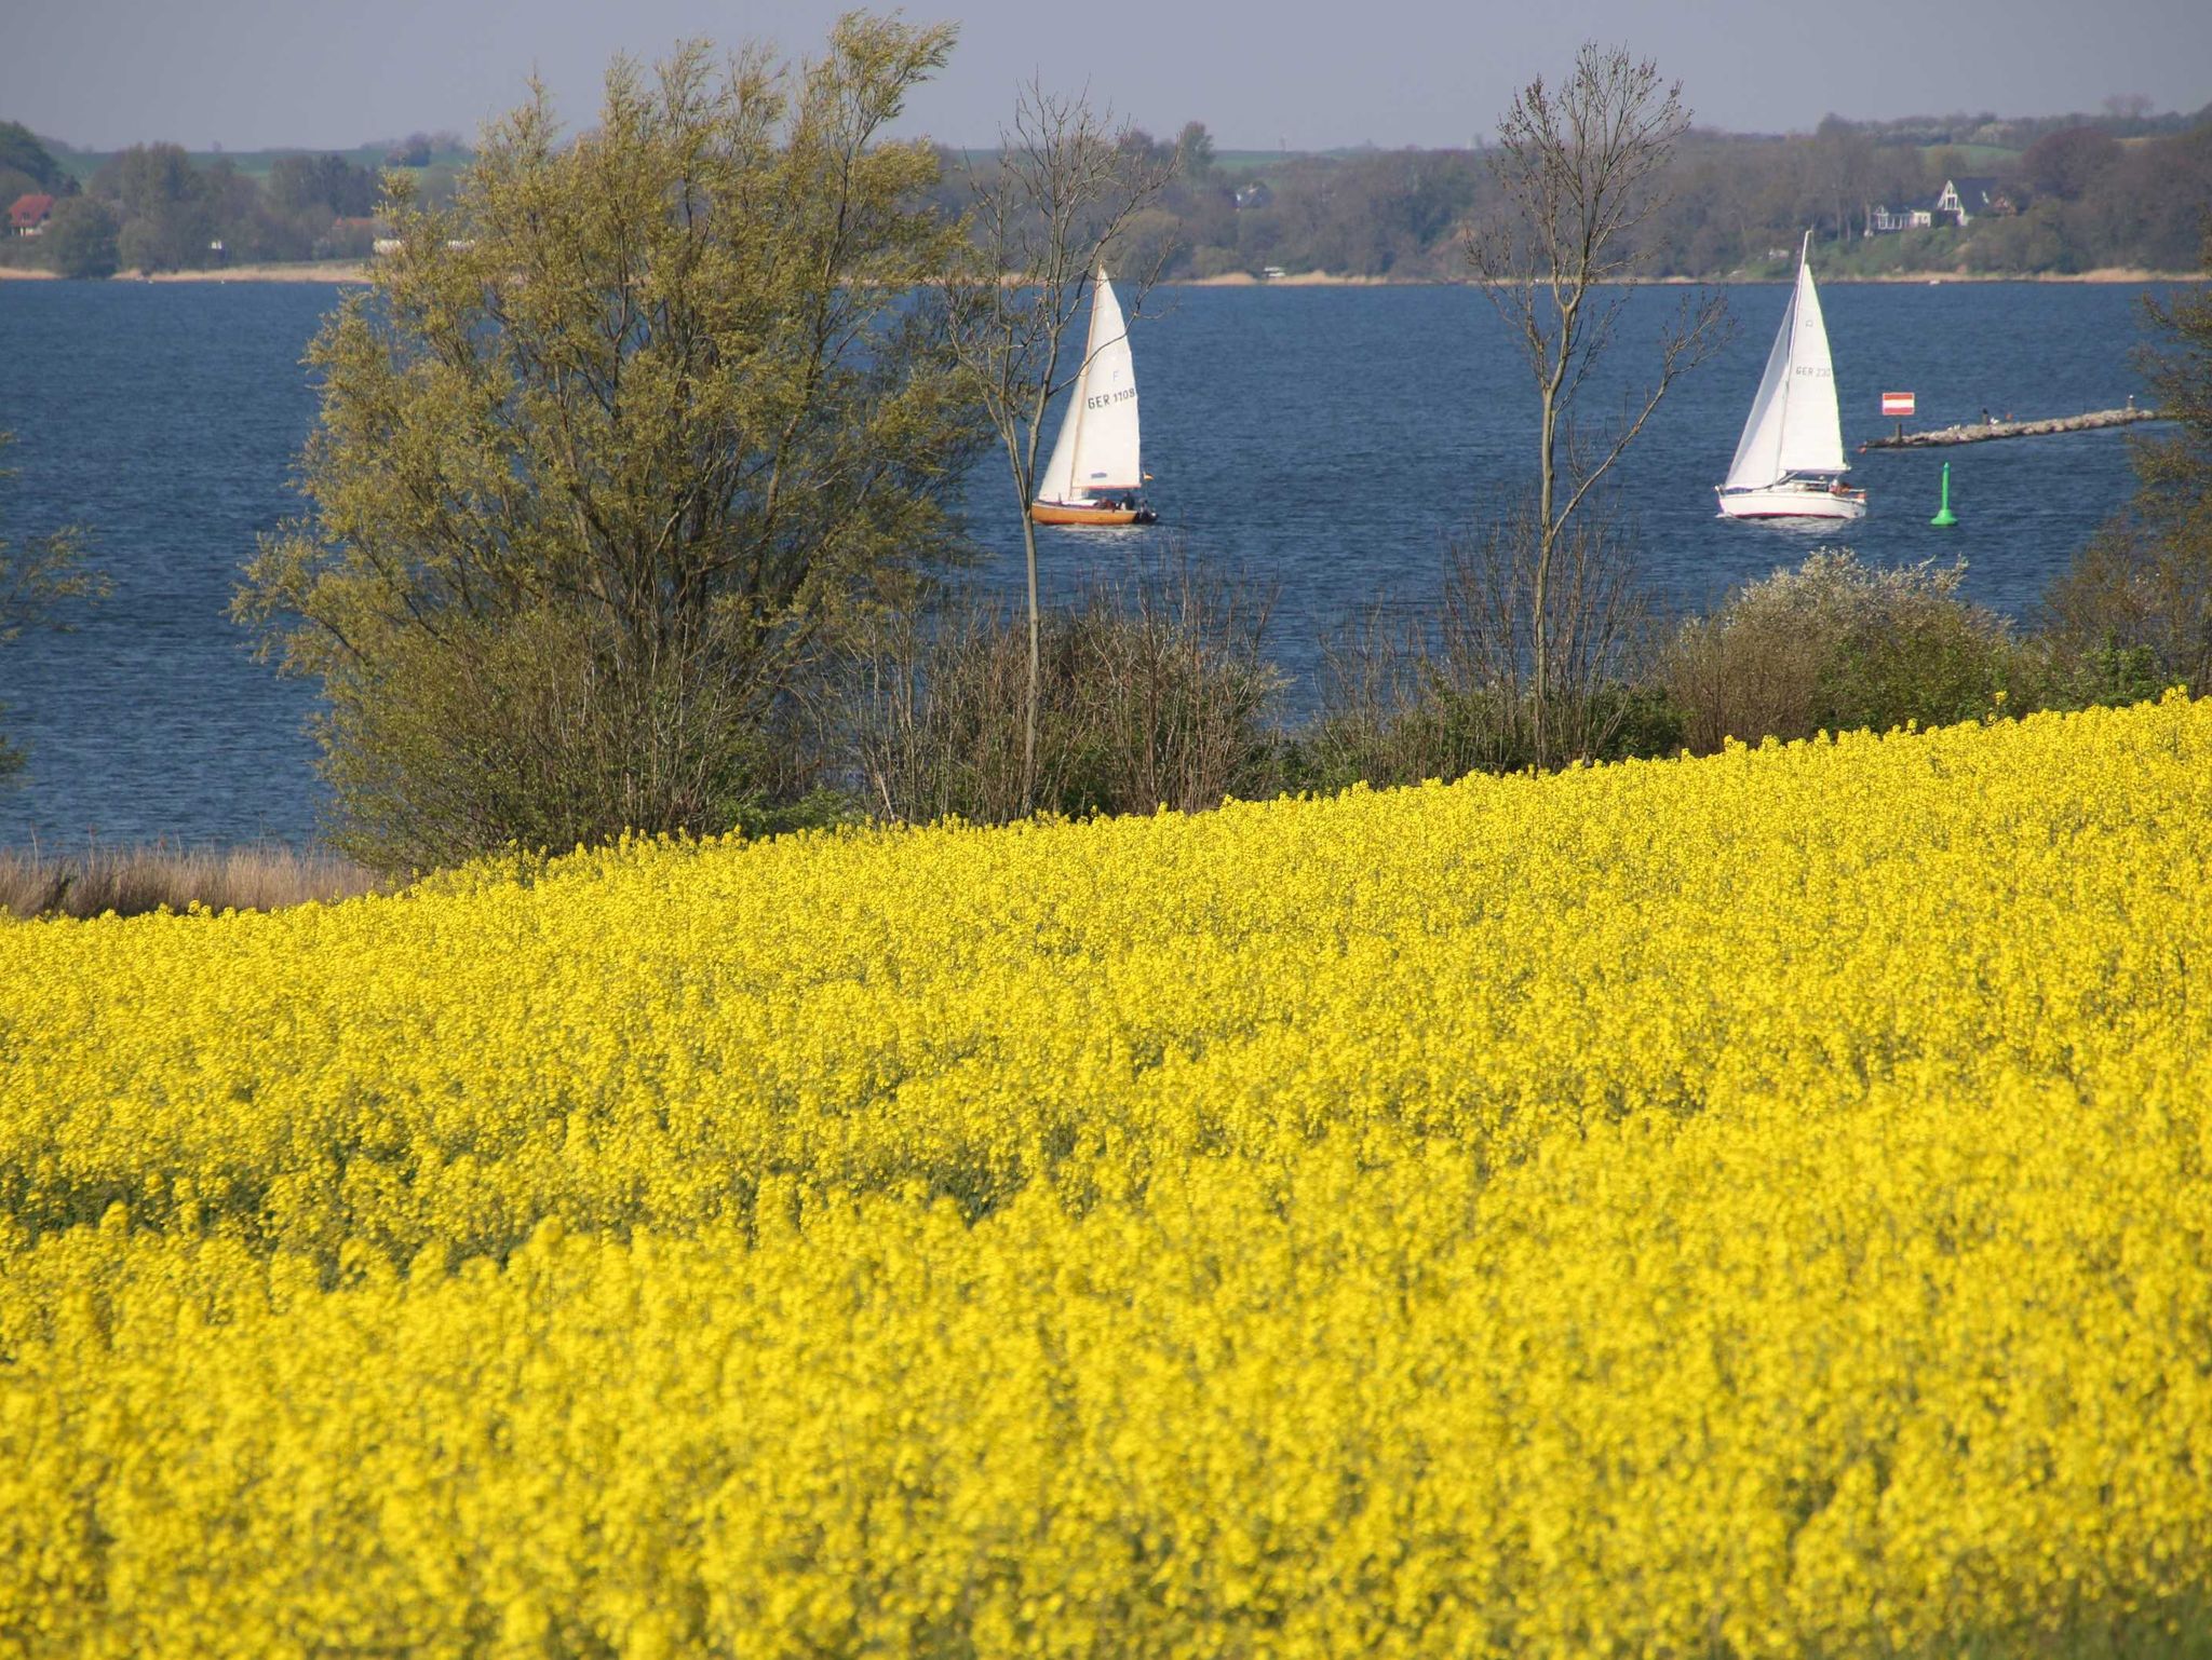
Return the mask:
<svg viewBox="0 0 2212 1660">
<path fill-rule="evenodd" d="M 1663 175 L 1688 126 L 1681 84 L 1663 86 L 1657 64 L 1621 46 L 1584 44 L 1562 86 L 1528 82 L 1498 122 L 1489 161 L 1500 206 L 1467 245 L 1475 281 L 1520 336 L 1542 409 L 1535 515 L 1502 526 L 1526 535 L 1531 550 L 1524 559 L 1491 561 L 1500 572 L 1520 572 L 1513 588 L 1526 614 L 1540 767 L 1555 758 L 1548 718 L 1555 681 L 1588 668 L 1588 632 L 1562 632 L 1553 592 L 1571 524 L 1674 378 L 1725 338 L 1725 298 L 1714 292 L 1686 298 L 1659 336 L 1657 380 L 1626 398 L 1613 422 L 1593 429 L 1577 422 L 1582 391 L 1613 345 L 1646 265 L 1644 230 L 1666 203 Z M 1617 542 L 1595 537 L 1584 546 Z M 1584 586 L 1593 595 L 1608 590 L 1599 581 Z"/>
</svg>

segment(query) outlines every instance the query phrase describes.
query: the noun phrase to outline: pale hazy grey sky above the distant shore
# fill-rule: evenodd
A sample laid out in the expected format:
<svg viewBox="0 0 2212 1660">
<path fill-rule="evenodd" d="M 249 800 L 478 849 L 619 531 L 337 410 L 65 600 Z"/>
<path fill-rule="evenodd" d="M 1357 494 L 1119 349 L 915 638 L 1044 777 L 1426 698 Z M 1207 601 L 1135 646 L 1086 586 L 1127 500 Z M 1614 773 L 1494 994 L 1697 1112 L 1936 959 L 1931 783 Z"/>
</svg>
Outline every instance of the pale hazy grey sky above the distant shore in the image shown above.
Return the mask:
<svg viewBox="0 0 2212 1660">
<path fill-rule="evenodd" d="M 476 126 L 535 69 L 584 124 L 606 60 L 684 35 L 812 51 L 847 0 L 11 0 L 0 119 L 80 148 L 349 148 Z M 1891 117 L 2212 102 L 2212 0 L 1018 0 L 907 4 L 960 22 L 907 130 L 984 144 L 1031 73 L 1088 84 L 1155 133 L 1201 119 L 1221 148 L 1467 144 L 1584 38 L 1681 77 L 1699 124 L 1807 130 Z"/>
</svg>

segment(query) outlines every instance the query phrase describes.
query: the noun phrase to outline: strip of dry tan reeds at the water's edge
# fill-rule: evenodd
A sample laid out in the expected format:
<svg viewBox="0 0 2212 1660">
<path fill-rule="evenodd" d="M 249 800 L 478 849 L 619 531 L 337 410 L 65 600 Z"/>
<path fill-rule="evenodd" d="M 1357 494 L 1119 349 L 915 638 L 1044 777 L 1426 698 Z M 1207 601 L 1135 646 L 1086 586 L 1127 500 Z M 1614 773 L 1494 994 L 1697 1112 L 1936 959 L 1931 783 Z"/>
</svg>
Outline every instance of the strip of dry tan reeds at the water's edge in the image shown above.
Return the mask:
<svg viewBox="0 0 2212 1660">
<path fill-rule="evenodd" d="M 82 853 L 0 849 L 0 911 L 18 917 L 135 917 L 184 911 L 274 911 L 349 900 L 380 880 L 334 853 L 290 847 L 86 847 Z"/>
</svg>

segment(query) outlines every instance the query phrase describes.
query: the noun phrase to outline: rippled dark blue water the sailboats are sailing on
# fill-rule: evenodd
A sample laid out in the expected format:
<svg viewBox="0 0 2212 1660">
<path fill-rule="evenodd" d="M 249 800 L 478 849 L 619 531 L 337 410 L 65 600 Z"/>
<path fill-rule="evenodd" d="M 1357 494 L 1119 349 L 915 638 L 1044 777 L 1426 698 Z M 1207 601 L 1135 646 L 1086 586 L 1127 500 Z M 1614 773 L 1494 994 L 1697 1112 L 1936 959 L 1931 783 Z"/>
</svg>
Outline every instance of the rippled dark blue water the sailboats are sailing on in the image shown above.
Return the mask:
<svg viewBox="0 0 2212 1660">
<path fill-rule="evenodd" d="M 1916 424 L 2059 416 L 2141 396 L 2139 290 L 1944 283 L 1823 290 L 1847 446 Z M 1652 363 L 1679 290 L 1644 290 L 1584 393 L 1606 413 Z M 1969 561 L 1966 590 L 2031 614 L 2044 584 L 2130 486 L 2117 433 L 1856 458 L 1869 515 L 1820 533 L 1714 517 L 1781 318 L 1783 285 L 1730 290 L 1736 332 L 1683 378 L 1619 469 L 1646 581 L 1677 606 L 1847 539 L 1867 559 Z M 69 634 L 0 648 L 0 732 L 31 752 L 0 785 L 0 844 L 312 840 L 312 692 L 254 661 L 228 621 L 254 539 L 301 502 L 314 420 L 301 354 L 336 290 L 292 283 L 0 283 L 0 535 L 86 524 L 113 599 Z M 1161 524 L 1046 530 L 1046 592 L 1139 548 L 1274 595 L 1270 645 L 1305 676 L 1316 637 L 1376 599 L 1420 606 L 1453 535 L 1526 493 L 1535 393 L 1513 336 L 1467 287 L 1161 290 L 1135 325 L 1146 466 Z M 1936 530 L 1953 464 L 1960 524 Z M 1002 464 L 971 517 L 980 579 L 1020 584 Z"/>
</svg>

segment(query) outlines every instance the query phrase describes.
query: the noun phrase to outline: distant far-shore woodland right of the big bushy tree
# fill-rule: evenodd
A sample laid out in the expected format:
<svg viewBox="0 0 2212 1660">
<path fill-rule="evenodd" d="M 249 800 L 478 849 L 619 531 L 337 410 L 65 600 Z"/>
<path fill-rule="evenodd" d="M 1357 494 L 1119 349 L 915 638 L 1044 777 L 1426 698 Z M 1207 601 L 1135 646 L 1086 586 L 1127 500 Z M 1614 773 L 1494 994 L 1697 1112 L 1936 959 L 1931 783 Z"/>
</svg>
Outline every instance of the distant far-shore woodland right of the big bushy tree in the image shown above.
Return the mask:
<svg viewBox="0 0 2212 1660">
<path fill-rule="evenodd" d="M 1759 274 L 1787 261 L 1805 228 L 1823 267 L 1847 274 L 1960 270 L 2081 272 L 2104 265 L 2190 270 L 2212 210 L 2212 108 L 2148 115 L 2141 99 L 2106 117 L 1827 117 L 1787 137 L 1690 130 L 1670 161 L 1668 210 L 1641 237 L 1661 276 Z M 1217 157 L 1201 122 L 1172 141 L 1126 144 L 1179 155 L 1175 183 L 1128 230 L 1130 263 L 1166 250 L 1166 276 L 1329 272 L 1398 281 L 1462 279 L 1469 223 L 1495 214 L 1480 150 L 1285 155 L 1256 166 Z M 945 157 L 945 206 L 958 161 Z M 1947 179 L 1995 179 L 2002 208 L 1966 228 L 1869 237 L 1876 208 L 1924 208 Z"/>
</svg>

